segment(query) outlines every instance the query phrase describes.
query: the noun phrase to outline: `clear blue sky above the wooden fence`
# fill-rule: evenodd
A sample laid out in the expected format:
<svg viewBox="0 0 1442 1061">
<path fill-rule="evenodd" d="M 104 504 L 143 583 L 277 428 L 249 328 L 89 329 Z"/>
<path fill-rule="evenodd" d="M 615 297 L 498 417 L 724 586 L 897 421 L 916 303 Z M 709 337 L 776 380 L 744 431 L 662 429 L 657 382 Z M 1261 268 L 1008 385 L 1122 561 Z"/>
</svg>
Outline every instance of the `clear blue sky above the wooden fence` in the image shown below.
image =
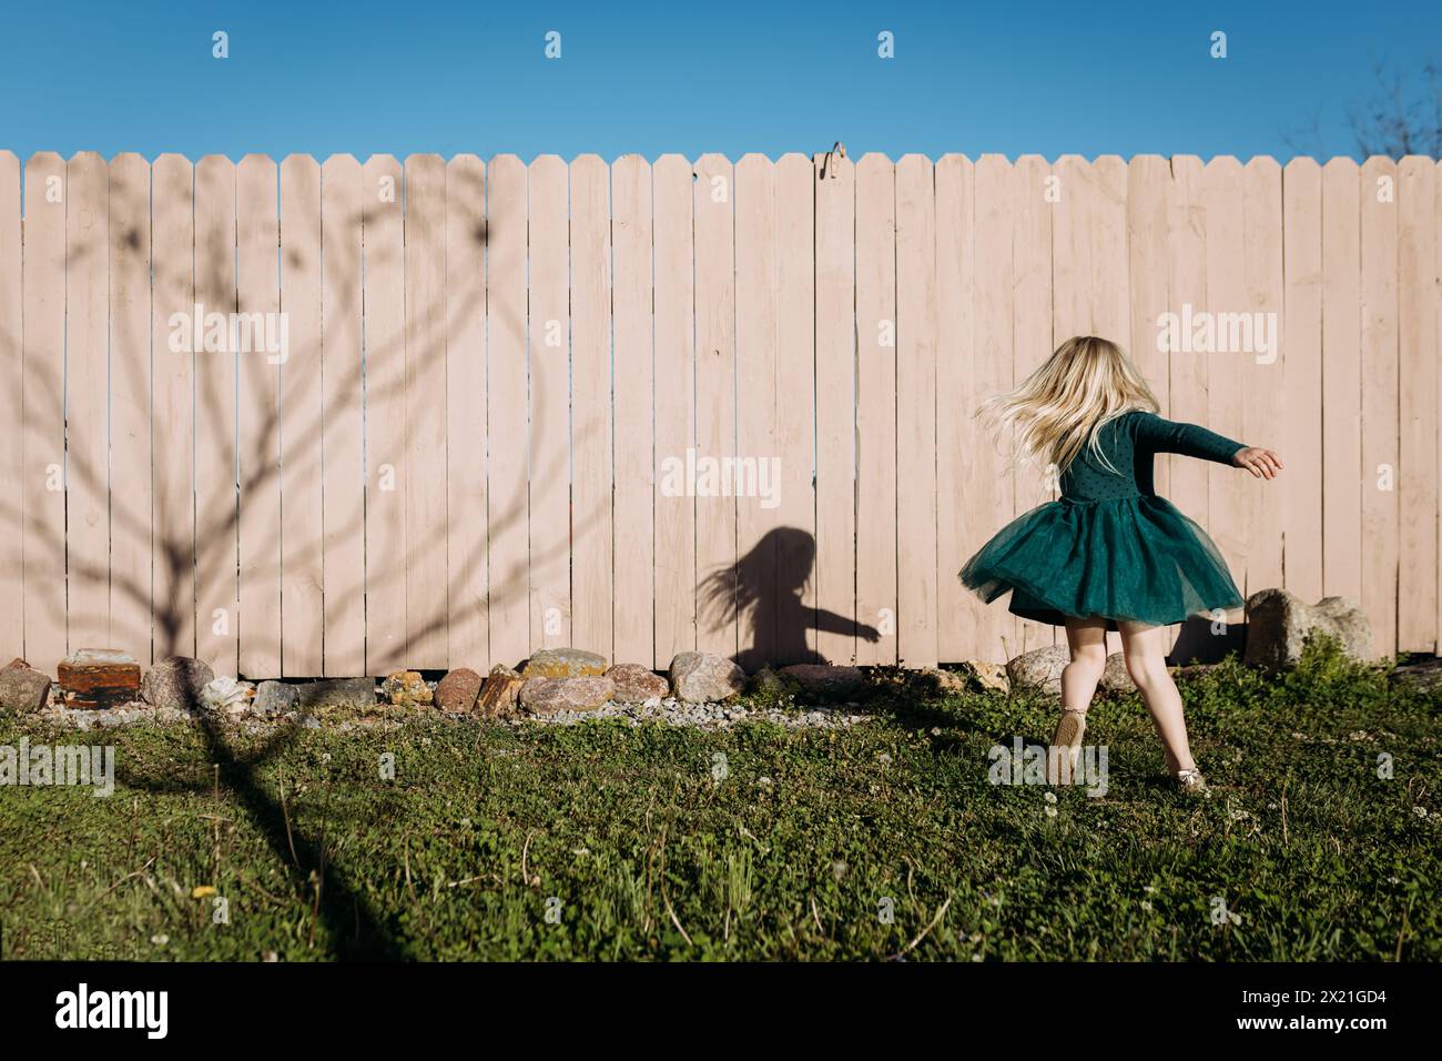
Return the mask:
<svg viewBox="0 0 1442 1061">
<path fill-rule="evenodd" d="M 626 152 L 1201 156 L 1354 150 L 1373 61 L 1442 53 L 1442 4 L 6 0 L 22 157 Z M 229 33 L 231 58 L 211 56 Z M 562 56 L 545 59 L 544 36 Z M 895 58 L 877 35 L 895 35 Z M 1227 33 L 1226 59 L 1208 55 Z M 1315 130 L 1314 130 L 1315 127 Z M 1293 143 L 1288 143 L 1288 137 Z"/>
</svg>

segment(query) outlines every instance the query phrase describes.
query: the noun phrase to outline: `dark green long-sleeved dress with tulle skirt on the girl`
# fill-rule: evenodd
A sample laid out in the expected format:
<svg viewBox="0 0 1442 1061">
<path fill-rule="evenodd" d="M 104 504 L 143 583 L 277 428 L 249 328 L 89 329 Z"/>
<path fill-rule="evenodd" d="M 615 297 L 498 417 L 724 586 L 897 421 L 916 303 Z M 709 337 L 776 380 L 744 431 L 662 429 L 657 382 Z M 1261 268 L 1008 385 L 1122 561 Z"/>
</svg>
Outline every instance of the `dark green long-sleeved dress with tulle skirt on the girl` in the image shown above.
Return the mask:
<svg viewBox="0 0 1442 1061">
<path fill-rule="evenodd" d="M 1162 626 L 1216 608 L 1240 608 L 1226 560 L 1207 533 L 1156 497 L 1156 453 L 1231 463 L 1243 445 L 1195 424 L 1132 410 L 1105 424 L 1061 475 L 1061 499 L 1004 527 L 960 572 L 991 603 L 1011 593 L 1011 611 L 1061 625 L 1067 616 Z"/>
</svg>

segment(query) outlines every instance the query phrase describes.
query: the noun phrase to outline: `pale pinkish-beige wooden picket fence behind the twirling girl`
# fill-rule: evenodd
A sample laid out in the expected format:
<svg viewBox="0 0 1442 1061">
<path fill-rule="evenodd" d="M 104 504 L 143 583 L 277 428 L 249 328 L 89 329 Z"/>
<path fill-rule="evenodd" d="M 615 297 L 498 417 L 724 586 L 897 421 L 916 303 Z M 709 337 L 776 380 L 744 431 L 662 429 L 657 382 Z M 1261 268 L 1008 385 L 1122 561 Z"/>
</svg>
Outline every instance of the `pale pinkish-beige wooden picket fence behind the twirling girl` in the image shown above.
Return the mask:
<svg viewBox="0 0 1442 1061">
<path fill-rule="evenodd" d="M 0 650 L 1007 658 L 1056 632 L 956 570 L 1051 494 L 972 411 L 1097 333 L 1286 460 L 1161 460 L 1240 586 L 1435 651 L 1436 169 L 0 153 Z M 198 305 L 283 355 L 208 349 Z M 1275 313 L 1279 351 L 1159 352 L 1168 312 Z M 668 486 L 727 456 L 771 489 Z"/>
</svg>

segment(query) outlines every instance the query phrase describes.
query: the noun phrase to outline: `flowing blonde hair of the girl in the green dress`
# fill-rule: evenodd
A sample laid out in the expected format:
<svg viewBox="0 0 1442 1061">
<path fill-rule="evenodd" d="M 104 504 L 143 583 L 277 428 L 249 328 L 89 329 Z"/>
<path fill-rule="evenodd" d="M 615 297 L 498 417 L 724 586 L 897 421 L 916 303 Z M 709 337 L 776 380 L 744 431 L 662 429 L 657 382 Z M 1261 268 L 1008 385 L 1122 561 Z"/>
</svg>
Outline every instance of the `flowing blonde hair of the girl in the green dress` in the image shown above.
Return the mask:
<svg viewBox="0 0 1442 1061">
<path fill-rule="evenodd" d="M 1155 413 L 1159 406 L 1122 348 L 1094 335 L 1076 335 L 1019 387 L 988 398 L 976 413 L 992 422 L 998 436 L 1012 429 L 1017 449 L 1056 465 L 1060 475 L 1083 449 L 1115 472 L 1097 433 L 1138 409 Z"/>
</svg>

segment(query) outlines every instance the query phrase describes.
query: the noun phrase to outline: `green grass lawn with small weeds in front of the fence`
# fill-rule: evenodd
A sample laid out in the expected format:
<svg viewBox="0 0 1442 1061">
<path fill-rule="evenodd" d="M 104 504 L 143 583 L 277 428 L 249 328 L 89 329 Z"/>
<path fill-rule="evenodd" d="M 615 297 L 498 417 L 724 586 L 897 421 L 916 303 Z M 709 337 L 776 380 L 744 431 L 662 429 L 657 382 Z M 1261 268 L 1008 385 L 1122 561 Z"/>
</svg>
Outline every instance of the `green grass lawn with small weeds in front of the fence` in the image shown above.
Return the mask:
<svg viewBox="0 0 1442 1061">
<path fill-rule="evenodd" d="M 6 717 L 0 743 L 114 742 L 120 781 L 111 798 L 0 788 L 0 943 L 146 960 L 1442 957 L 1442 696 L 1324 650 L 1182 694 L 1210 800 L 1164 784 L 1135 696 L 1092 715 L 1106 797 L 1053 803 L 986 780 L 988 749 L 1043 742 L 1053 707 L 906 680 L 846 732 L 46 735 Z"/>
</svg>

